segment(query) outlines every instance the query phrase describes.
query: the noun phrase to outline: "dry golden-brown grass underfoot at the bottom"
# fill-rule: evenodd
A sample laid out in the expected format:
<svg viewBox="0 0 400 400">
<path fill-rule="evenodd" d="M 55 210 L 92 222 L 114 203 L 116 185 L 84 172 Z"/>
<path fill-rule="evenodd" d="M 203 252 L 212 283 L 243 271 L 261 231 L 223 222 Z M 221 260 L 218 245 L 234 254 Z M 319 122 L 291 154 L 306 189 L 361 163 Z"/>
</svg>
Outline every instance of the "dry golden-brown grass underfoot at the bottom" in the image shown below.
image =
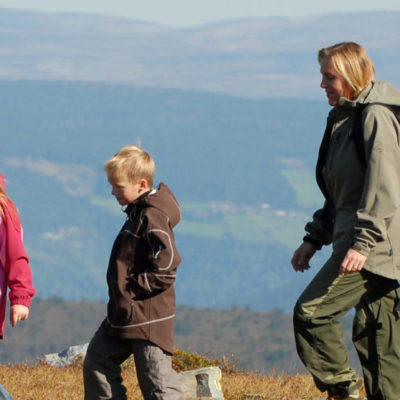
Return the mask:
<svg viewBox="0 0 400 400">
<path fill-rule="evenodd" d="M 130 400 L 140 400 L 134 367 L 123 369 Z M 15 400 L 82 400 L 82 365 L 57 368 L 49 365 L 0 366 L 0 382 Z M 313 400 L 323 397 L 310 376 L 256 373 L 223 373 L 222 390 L 227 400 Z M 254 395 L 260 395 L 260 397 Z"/>
</svg>

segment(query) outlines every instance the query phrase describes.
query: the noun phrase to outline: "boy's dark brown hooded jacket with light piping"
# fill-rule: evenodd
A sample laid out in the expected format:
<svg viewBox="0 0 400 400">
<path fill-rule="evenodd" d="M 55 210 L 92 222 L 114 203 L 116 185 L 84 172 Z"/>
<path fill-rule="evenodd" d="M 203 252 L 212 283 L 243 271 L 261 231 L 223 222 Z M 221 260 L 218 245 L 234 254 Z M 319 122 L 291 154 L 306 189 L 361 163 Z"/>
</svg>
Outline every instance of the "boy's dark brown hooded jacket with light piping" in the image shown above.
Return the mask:
<svg viewBox="0 0 400 400">
<path fill-rule="evenodd" d="M 125 210 L 107 271 L 108 330 L 111 336 L 149 340 L 172 353 L 176 269 L 181 257 L 173 227 L 179 204 L 164 184 Z"/>
</svg>

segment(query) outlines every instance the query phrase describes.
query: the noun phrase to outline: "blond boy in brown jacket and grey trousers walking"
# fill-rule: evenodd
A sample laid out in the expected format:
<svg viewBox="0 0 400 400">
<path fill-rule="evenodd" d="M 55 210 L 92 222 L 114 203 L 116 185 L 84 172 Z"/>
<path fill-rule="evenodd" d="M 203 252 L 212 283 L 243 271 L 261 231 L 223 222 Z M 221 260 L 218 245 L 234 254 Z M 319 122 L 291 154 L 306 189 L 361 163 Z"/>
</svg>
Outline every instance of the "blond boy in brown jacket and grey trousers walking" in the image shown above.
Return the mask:
<svg viewBox="0 0 400 400">
<path fill-rule="evenodd" d="M 154 161 L 139 147 L 123 147 L 104 170 L 127 219 L 111 250 L 107 318 L 84 362 L 85 400 L 126 399 L 120 364 L 131 354 L 146 400 L 181 399 L 171 367 L 179 204 L 166 185 L 152 189 Z"/>
</svg>

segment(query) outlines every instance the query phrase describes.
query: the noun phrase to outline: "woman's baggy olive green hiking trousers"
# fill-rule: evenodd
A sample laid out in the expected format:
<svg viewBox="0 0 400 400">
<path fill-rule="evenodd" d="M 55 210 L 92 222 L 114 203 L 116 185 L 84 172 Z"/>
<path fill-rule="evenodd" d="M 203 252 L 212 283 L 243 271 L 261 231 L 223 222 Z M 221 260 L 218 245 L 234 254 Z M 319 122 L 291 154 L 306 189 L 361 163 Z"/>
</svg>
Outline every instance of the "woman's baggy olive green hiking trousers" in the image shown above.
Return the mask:
<svg viewBox="0 0 400 400">
<path fill-rule="evenodd" d="M 333 255 L 294 309 L 297 352 L 321 391 L 345 397 L 361 386 L 349 367 L 339 319 L 353 307 L 353 343 L 369 400 L 400 398 L 399 283 L 368 271 L 338 275 Z"/>
</svg>

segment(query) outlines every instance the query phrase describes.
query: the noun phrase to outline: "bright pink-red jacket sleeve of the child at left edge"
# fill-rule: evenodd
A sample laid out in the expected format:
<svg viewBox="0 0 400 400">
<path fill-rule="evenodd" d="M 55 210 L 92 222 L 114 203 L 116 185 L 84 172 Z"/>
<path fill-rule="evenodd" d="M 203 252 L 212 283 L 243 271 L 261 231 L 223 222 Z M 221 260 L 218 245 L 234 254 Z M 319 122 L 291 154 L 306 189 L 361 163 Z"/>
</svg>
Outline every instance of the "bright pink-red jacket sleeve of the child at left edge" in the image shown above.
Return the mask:
<svg viewBox="0 0 400 400">
<path fill-rule="evenodd" d="M 21 304 L 29 307 L 35 294 L 29 259 L 22 243 L 22 227 L 17 213 L 6 215 L 6 265 L 7 286 L 10 289 L 11 305 Z"/>
</svg>

